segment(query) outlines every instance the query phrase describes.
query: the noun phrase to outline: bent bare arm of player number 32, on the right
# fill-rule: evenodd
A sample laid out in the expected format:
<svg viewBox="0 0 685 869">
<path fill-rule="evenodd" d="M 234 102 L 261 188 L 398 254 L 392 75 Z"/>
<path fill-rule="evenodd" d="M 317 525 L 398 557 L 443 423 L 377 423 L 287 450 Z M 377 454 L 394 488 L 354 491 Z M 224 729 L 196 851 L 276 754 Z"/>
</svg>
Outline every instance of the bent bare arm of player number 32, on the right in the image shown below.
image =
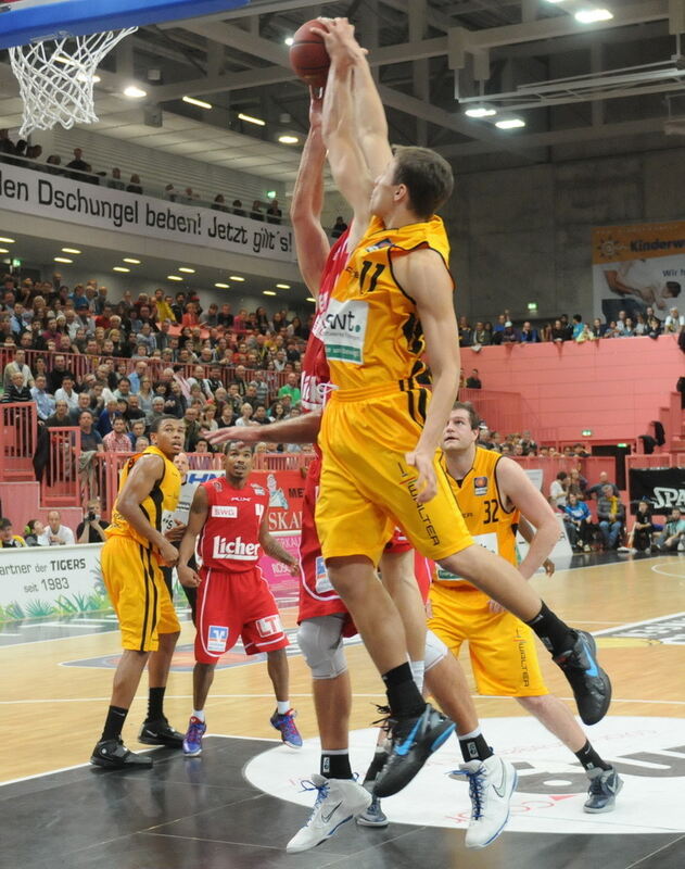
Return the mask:
<svg viewBox="0 0 685 869">
<path fill-rule="evenodd" d="M 529 540 L 525 558 L 519 565 L 519 571 L 530 579 L 555 547 L 559 538 L 559 526 L 553 508 L 543 493 L 536 489 L 523 468 L 511 458 L 502 458 L 495 470 L 497 487 L 507 501 L 520 511 L 521 516 L 535 529 Z"/>
</svg>

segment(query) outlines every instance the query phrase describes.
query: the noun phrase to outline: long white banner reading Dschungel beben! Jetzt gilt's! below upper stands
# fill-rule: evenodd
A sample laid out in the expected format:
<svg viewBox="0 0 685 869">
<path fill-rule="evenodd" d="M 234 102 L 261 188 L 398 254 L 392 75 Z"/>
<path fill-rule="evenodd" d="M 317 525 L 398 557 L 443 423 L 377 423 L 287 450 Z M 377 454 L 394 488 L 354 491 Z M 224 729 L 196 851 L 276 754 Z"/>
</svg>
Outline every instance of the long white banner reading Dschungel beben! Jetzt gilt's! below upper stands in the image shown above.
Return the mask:
<svg viewBox="0 0 685 869">
<path fill-rule="evenodd" d="M 7 163 L 0 164 L 0 209 L 227 253 L 294 260 L 289 226 L 111 190 Z"/>
</svg>

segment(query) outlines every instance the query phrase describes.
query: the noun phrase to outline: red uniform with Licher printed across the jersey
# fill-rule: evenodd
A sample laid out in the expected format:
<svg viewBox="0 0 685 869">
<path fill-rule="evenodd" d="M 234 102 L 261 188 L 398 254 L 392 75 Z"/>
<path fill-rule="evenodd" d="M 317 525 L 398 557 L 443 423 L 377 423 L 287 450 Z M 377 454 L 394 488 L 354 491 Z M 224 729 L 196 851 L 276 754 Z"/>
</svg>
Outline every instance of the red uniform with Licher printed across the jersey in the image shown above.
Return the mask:
<svg viewBox="0 0 685 869">
<path fill-rule="evenodd" d="M 259 527 L 268 508 L 264 487 L 234 489 L 225 477 L 202 483 L 207 519 L 198 542 L 195 660 L 215 664 L 242 637 L 245 654 L 289 645 L 278 607 L 258 567 Z"/>
</svg>

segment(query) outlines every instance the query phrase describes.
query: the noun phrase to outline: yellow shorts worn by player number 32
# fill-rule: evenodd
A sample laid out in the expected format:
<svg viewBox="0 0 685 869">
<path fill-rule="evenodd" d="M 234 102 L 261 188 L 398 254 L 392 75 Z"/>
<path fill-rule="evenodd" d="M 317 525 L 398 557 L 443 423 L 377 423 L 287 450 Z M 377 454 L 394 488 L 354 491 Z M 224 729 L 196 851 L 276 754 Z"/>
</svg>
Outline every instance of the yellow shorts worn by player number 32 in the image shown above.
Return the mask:
<svg viewBox="0 0 685 869">
<path fill-rule="evenodd" d="M 468 640 L 479 694 L 537 697 L 548 694 L 540 671 L 535 634 L 511 613 L 491 613 L 482 591 L 433 583 L 428 627 L 459 655 Z"/>
</svg>

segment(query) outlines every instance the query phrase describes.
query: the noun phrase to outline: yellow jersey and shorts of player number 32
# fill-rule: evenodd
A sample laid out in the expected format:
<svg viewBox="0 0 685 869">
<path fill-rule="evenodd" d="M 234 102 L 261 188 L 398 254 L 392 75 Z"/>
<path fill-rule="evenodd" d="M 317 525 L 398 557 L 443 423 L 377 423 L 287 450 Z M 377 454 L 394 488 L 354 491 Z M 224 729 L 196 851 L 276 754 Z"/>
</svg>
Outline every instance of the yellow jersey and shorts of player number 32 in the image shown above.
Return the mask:
<svg viewBox="0 0 685 869">
<path fill-rule="evenodd" d="M 466 477 L 449 482 L 475 543 L 516 565 L 516 526 L 520 514 L 508 509 L 497 487 L 502 455 L 475 448 Z M 446 470 L 444 456 L 441 464 Z M 490 597 L 470 582 L 437 568 L 429 593 L 429 628 L 459 654 L 469 642 L 480 694 L 530 697 L 547 694 L 535 648 L 535 634 L 511 613 L 493 613 Z"/>
</svg>

